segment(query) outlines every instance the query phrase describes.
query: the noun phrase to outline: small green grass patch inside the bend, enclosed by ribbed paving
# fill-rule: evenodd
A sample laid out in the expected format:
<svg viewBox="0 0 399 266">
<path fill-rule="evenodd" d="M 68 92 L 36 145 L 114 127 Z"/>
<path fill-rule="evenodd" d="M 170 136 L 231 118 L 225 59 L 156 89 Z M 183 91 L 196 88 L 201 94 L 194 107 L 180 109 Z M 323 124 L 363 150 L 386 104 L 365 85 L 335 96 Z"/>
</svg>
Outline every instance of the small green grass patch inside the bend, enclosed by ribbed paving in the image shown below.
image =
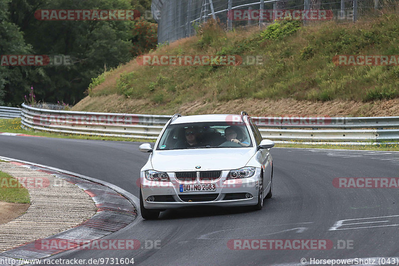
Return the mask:
<svg viewBox="0 0 399 266">
<path fill-rule="evenodd" d="M 15 178 L 0 171 L 0 201 L 30 203 L 29 193 Z"/>
</svg>

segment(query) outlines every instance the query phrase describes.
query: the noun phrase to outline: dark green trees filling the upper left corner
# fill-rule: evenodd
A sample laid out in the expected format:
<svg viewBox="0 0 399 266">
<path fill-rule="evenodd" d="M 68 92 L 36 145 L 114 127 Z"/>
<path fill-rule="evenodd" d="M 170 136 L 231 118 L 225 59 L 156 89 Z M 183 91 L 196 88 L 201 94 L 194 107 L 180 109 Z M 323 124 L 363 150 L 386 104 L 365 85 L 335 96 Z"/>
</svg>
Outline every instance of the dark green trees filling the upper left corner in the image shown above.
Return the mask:
<svg viewBox="0 0 399 266">
<path fill-rule="evenodd" d="M 72 65 L 1 66 L 0 104 L 17 106 L 33 86 L 36 100 L 77 103 L 91 78 L 132 59 L 137 21 L 37 20 L 38 9 L 149 10 L 151 0 L 0 0 L 0 54 L 64 55 Z M 142 42 L 144 43 L 144 42 Z M 146 43 L 144 43 L 145 45 Z"/>
</svg>

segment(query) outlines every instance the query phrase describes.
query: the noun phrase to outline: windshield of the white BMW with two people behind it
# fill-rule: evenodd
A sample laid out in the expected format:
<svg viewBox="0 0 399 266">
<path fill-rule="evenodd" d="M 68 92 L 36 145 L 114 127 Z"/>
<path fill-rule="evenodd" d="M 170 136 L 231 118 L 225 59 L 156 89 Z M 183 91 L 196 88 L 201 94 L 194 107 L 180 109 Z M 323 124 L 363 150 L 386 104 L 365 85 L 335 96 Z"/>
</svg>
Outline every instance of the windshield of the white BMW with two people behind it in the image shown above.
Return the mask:
<svg viewBox="0 0 399 266">
<path fill-rule="evenodd" d="M 245 124 L 201 122 L 169 125 L 157 149 L 242 148 L 252 146 Z"/>
</svg>

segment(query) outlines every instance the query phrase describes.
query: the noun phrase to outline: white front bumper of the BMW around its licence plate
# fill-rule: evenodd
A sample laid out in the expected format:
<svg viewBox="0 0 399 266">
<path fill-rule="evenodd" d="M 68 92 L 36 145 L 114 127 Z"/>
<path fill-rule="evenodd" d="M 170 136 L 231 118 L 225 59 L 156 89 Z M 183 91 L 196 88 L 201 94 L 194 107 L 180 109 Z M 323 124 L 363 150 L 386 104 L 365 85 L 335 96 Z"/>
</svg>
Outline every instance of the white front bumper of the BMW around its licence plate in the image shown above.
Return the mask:
<svg viewBox="0 0 399 266">
<path fill-rule="evenodd" d="M 219 179 L 214 181 L 179 181 L 174 172 L 168 172 L 171 182 L 154 182 L 144 178 L 141 172 L 140 187 L 143 205 L 146 209 L 172 209 L 187 206 L 250 206 L 258 203 L 260 168 L 248 178 L 225 180 L 228 170 L 222 171 Z M 180 192 L 181 184 L 216 184 L 215 191 Z M 246 197 L 246 193 L 252 195 Z M 154 196 L 150 202 L 148 197 Z M 191 200 L 191 197 L 193 198 Z M 206 200 L 201 200 L 202 198 Z"/>
</svg>

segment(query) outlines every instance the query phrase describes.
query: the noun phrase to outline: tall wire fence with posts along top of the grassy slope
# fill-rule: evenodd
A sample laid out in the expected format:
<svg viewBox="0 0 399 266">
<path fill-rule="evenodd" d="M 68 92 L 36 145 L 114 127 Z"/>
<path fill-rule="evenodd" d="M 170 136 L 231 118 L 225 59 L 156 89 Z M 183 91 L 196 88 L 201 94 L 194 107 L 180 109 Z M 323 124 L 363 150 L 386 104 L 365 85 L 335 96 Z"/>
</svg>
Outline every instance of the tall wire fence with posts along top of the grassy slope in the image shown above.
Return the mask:
<svg viewBox="0 0 399 266">
<path fill-rule="evenodd" d="M 287 15 L 304 23 L 349 22 L 396 12 L 399 0 L 153 0 L 151 9 L 158 16 L 158 42 L 164 43 L 194 35 L 196 25 L 210 17 L 226 29 L 267 25 Z"/>
</svg>

